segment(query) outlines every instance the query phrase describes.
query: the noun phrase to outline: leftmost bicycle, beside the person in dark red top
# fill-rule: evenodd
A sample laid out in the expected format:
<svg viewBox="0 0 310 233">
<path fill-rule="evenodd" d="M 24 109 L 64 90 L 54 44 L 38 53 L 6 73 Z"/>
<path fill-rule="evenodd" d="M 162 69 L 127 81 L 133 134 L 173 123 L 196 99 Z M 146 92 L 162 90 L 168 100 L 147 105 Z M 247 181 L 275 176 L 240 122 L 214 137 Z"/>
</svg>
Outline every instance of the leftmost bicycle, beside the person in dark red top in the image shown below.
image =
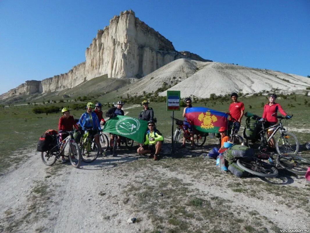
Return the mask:
<svg viewBox="0 0 310 233">
<path fill-rule="evenodd" d="M 65 147 L 69 144 L 69 154 L 68 156 L 64 155 L 65 157 L 69 157 L 70 163 L 73 167 L 78 168 L 81 164 L 81 151 L 78 144 L 75 142 L 73 138 L 74 131 L 68 131 L 69 136 L 66 137 L 64 140 L 60 141 L 60 135 L 55 135 L 54 139 L 56 140 L 56 144 L 53 145 L 50 149 L 46 152 L 41 153 L 42 162 L 47 165 L 53 165 L 57 159 L 62 156 L 62 152 L 64 152 Z"/>
</svg>

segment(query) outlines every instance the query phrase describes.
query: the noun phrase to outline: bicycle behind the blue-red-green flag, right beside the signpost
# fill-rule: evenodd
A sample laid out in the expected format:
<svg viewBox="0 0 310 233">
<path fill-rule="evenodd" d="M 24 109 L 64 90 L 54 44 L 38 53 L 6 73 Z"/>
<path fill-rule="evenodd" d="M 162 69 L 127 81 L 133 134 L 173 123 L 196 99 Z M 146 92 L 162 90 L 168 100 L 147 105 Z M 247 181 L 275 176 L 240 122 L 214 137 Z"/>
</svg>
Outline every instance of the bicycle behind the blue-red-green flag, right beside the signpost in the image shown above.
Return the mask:
<svg viewBox="0 0 310 233">
<path fill-rule="evenodd" d="M 174 136 L 173 136 L 173 143 L 176 145 L 179 142 L 180 135 L 181 135 L 181 129 L 182 129 L 183 135 L 185 135 L 186 142 L 191 142 L 190 132 L 187 129 L 184 129 L 183 127 L 184 121 L 179 120 L 172 116 L 171 118 L 175 120 L 175 124 L 177 125 Z M 206 133 L 194 130 L 194 145 L 197 147 L 201 147 L 203 144 L 205 144 L 205 142 L 206 142 Z"/>
</svg>

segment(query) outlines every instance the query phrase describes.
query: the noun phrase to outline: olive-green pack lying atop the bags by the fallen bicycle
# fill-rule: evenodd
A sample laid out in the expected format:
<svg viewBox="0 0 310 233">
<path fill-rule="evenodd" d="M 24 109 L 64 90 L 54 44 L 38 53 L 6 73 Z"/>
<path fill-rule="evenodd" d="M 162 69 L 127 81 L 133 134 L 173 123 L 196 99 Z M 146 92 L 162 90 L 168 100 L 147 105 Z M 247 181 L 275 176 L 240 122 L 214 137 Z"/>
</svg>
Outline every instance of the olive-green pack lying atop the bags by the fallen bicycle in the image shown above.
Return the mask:
<svg viewBox="0 0 310 233">
<path fill-rule="evenodd" d="M 243 145 L 233 145 L 223 152 L 225 159 L 228 161 L 228 164 L 232 164 L 232 162 L 236 159 L 243 159 L 247 161 L 253 160 L 253 150 L 247 146 Z"/>
</svg>

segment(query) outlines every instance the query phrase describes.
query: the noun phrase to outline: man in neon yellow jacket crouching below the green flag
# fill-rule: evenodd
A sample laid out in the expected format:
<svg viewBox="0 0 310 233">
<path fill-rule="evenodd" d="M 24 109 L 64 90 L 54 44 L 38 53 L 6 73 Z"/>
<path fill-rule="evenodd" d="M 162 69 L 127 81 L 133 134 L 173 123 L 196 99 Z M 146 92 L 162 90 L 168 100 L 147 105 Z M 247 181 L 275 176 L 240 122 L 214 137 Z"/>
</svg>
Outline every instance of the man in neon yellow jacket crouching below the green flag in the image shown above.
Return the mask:
<svg viewBox="0 0 310 233">
<path fill-rule="evenodd" d="M 145 142 L 144 144 L 139 144 L 140 147 L 137 149 L 138 154 L 150 153 L 150 158 L 158 160 L 158 153 L 162 148 L 163 140 L 164 137 L 162 134 L 157 129 L 155 129 L 154 121 L 149 121 L 148 131 L 145 134 Z"/>
</svg>

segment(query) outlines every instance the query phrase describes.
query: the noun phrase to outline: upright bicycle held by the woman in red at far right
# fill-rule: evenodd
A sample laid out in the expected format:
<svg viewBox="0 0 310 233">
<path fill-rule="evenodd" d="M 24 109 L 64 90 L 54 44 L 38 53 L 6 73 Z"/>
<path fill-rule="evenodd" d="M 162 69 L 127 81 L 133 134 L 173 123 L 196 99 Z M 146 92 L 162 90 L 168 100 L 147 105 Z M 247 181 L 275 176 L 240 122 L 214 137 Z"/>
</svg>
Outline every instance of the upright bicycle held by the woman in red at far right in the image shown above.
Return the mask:
<svg viewBox="0 0 310 233">
<path fill-rule="evenodd" d="M 298 142 L 297 137 L 294 134 L 287 132 L 287 130 L 283 127 L 282 120 L 283 119 L 287 120 L 286 117 L 277 116 L 277 118 L 279 119 L 278 124 L 265 128 L 264 121 L 260 121 L 262 118 L 257 115 L 253 116 L 253 119 L 258 120 L 260 124 L 259 132 L 256 134 L 256 140 L 259 143 L 258 144 L 259 151 L 265 152 L 269 147 L 268 142 L 273 138 L 273 136 L 277 133 L 277 131 L 280 131 L 280 136 L 276 139 L 276 145 L 275 145 L 277 153 L 280 155 L 284 155 L 284 154 L 296 155 L 299 150 L 299 142 Z M 269 136 L 268 139 L 266 139 L 266 132 L 269 129 L 274 129 L 274 128 L 275 130 L 273 130 L 273 133 Z M 246 139 L 246 144 L 249 147 L 254 146 L 255 148 L 255 141 L 253 145 L 250 145 L 248 142 L 248 139 Z"/>
</svg>

